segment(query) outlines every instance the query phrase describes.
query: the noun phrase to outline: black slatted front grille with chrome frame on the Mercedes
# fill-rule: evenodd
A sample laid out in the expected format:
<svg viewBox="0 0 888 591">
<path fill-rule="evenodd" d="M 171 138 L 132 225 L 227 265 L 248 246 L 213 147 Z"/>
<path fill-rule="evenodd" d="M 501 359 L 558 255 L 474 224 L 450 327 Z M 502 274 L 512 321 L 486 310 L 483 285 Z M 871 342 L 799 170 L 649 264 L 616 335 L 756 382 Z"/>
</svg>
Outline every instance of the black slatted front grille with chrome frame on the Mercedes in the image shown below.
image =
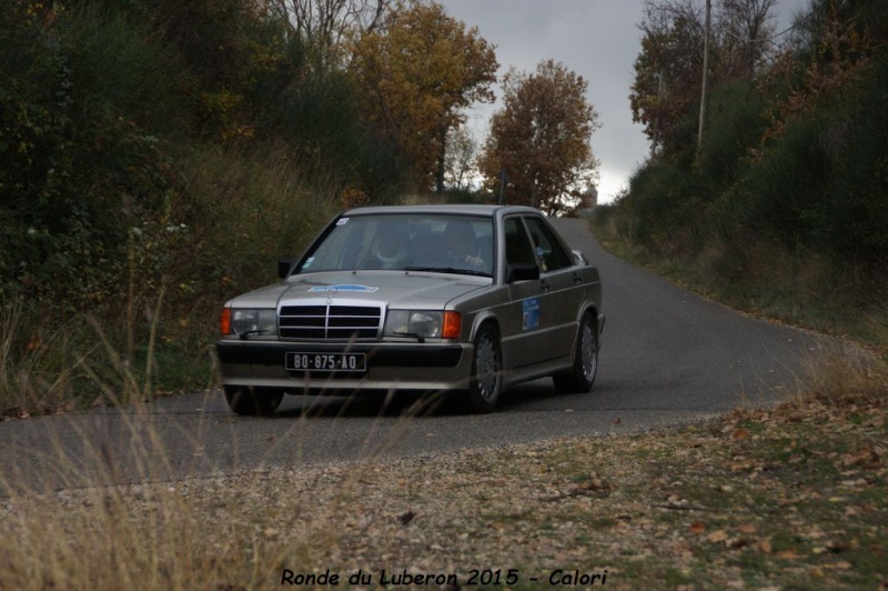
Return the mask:
<svg viewBox="0 0 888 591">
<path fill-rule="evenodd" d="M 373 305 L 284 305 L 278 331 L 282 339 L 375 339 L 381 320 Z"/>
</svg>

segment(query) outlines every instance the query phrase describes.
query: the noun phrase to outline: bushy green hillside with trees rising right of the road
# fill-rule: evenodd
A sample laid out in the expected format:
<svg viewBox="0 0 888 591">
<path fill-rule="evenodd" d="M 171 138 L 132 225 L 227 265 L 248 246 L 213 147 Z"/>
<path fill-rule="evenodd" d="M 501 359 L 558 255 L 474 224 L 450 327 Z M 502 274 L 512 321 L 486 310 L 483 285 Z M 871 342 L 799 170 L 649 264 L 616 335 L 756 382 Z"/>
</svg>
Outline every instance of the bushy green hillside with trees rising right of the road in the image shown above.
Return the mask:
<svg viewBox="0 0 888 591">
<path fill-rule="evenodd" d="M 748 53 L 717 29 L 703 119 L 700 70 L 667 51 L 692 33 L 669 18 L 645 37 L 632 97 L 654 152 L 598 208 L 599 237 L 730 305 L 885 353 L 888 4 L 813 1 L 754 46 L 758 61 L 737 62 Z M 665 71 L 686 86 L 650 87 Z"/>
</svg>

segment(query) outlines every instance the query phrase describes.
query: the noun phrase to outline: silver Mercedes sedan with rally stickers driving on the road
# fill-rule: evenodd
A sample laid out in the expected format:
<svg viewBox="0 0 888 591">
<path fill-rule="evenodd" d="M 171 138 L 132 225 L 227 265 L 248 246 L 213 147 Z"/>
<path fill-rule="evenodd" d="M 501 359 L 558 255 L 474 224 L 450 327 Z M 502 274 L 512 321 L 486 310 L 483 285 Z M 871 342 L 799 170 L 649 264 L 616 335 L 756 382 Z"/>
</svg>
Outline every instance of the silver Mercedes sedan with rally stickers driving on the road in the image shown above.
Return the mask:
<svg viewBox="0 0 888 591">
<path fill-rule="evenodd" d="M 239 414 L 271 414 L 285 393 L 373 391 L 444 392 L 491 412 L 522 381 L 595 381 L 598 270 L 535 209 L 352 209 L 279 276 L 222 310 L 216 351 Z"/>
</svg>

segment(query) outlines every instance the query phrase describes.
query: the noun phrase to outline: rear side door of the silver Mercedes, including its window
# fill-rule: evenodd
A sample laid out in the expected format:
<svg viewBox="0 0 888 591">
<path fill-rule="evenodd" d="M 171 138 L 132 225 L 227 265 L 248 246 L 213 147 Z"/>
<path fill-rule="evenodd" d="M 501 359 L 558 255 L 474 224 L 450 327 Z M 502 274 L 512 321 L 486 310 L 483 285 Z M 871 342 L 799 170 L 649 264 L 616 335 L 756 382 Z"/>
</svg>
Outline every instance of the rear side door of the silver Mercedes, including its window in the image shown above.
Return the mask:
<svg viewBox="0 0 888 591">
<path fill-rule="evenodd" d="M 571 355 L 577 334 L 577 313 L 583 300 L 583 278 L 573 256 L 564 248 L 546 220 L 525 216 L 539 264 L 543 301 L 546 304 L 544 340 L 538 343 L 548 359 Z"/>
</svg>

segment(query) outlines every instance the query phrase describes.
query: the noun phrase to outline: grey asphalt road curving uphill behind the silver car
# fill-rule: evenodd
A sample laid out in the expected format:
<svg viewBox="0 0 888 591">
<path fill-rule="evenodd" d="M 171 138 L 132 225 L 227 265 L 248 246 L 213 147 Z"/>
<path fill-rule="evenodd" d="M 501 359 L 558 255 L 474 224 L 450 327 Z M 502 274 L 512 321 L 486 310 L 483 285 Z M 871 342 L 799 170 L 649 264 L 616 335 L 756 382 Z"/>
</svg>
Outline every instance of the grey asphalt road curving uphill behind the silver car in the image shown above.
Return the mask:
<svg viewBox="0 0 888 591">
<path fill-rule="evenodd" d="M 602 273 L 607 314 L 592 392 L 548 379 L 516 387 L 493 414 L 442 402 L 287 397 L 273 418 L 232 414 L 221 393 L 0 422 L 0 494 L 99 482 L 165 480 L 242 469 L 629 433 L 768 404 L 818 347 L 808 333 L 706 301 L 604 252 L 582 220 L 556 220 Z"/>
</svg>

